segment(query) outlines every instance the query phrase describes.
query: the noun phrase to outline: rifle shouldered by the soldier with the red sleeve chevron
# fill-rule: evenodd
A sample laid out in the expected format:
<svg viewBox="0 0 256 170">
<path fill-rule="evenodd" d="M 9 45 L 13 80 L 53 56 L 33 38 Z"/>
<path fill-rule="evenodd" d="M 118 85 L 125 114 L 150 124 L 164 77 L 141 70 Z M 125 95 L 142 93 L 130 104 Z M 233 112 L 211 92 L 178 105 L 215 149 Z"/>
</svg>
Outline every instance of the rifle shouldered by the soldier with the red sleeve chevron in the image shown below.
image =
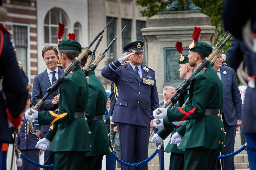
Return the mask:
<svg viewBox="0 0 256 170">
<path fill-rule="evenodd" d="M 232 37 L 232 34 L 229 33 L 228 36 L 225 38 L 225 40 L 220 44 L 220 46 L 215 47 L 212 50 L 212 53 L 208 57 L 204 58 L 204 60 L 194 69 L 193 73 L 186 80 L 184 80 L 181 83 L 181 85 L 178 86 L 178 88 L 176 89 L 176 93 L 174 93 L 174 95 L 170 99 L 168 99 L 164 105 L 160 106 L 159 108 L 167 108 L 168 105 L 170 105 L 170 108 L 171 108 L 175 103 L 177 103 L 178 99 L 187 89 L 187 86 L 191 84 L 196 74 L 199 73 L 209 63 L 211 63 L 211 65 L 213 63 L 214 65 L 217 57 L 221 53 L 222 47 L 229 41 L 231 37 Z M 161 110 L 158 109 L 156 113 L 160 114 Z"/>
</svg>

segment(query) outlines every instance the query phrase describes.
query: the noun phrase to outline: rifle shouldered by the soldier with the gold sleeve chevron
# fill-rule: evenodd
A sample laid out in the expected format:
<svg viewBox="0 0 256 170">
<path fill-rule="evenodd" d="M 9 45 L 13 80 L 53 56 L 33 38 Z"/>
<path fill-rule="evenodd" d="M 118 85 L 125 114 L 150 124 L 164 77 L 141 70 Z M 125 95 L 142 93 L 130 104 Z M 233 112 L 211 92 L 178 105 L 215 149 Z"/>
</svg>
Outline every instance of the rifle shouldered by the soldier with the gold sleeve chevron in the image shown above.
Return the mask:
<svg viewBox="0 0 256 170">
<path fill-rule="evenodd" d="M 111 21 L 113 20 L 113 18 L 111 19 Z M 111 22 L 110 21 L 110 22 Z M 79 55 L 77 57 L 75 57 L 71 63 L 67 66 L 67 68 L 65 68 L 65 70 L 61 73 L 61 75 L 59 76 L 58 80 L 55 81 L 55 83 L 53 83 L 53 85 L 51 87 L 49 87 L 47 89 L 47 93 L 44 95 L 44 97 L 42 99 L 40 99 L 40 101 L 38 101 L 36 103 L 35 106 L 32 106 L 32 109 L 38 110 L 41 105 L 43 105 L 44 101 L 47 99 L 47 97 L 54 93 L 58 87 L 61 85 L 62 81 L 65 79 L 65 77 L 68 75 L 68 73 L 70 71 L 73 71 L 76 66 L 80 63 L 80 61 L 82 60 L 82 58 L 87 55 L 90 52 L 90 47 L 93 45 L 93 43 L 99 38 L 99 36 L 101 34 L 103 34 L 103 32 L 105 31 L 105 29 L 107 28 L 108 24 L 110 23 L 108 22 L 107 25 L 105 26 L 105 28 L 103 28 L 103 30 L 101 30 L 99 32 L 99 34 L 94 38 L 94 40 L 92 42 L 90 42 L 90 45 L 88 47 L 84 47 L 81 51 L 81 53 L 79 53 Z M 29 115 L 31 115 L 32 113 L 34 113 L 32 110 L 30 110 L 30 112 L 28 113 Z"/>
</svg>

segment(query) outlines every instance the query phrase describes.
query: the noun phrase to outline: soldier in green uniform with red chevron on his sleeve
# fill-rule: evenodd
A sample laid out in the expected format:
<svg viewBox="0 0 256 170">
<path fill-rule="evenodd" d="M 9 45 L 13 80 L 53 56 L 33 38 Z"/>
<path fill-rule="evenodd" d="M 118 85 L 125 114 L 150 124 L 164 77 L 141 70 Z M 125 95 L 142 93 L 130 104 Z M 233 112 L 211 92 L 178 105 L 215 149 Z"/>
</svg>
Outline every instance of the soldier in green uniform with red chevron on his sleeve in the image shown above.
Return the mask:
<svg viewBox="0 0 256 170">
<path fill-rule="evenodd" d="M 189 65 L 195 68 L 212 52 L 204 42 L 196 42 L 188 54 Z M 211 170 L 215 168 L 218 152 L 223 151 L 225 132 L 220 118 L 223 108 L 223 86 L 210 64 L 193 79 L 189 90 L 189 103 L 184 108 L 159 108 L 156 119 L 168 117 L 169 122 L 186 121 L 173 137 L 178 149 L 184 152 L 184 169 Z M 186 132 L 186 133 L 185 133 Z M 182 137 L 183 136 L 183 137 Z"/>
</svg>

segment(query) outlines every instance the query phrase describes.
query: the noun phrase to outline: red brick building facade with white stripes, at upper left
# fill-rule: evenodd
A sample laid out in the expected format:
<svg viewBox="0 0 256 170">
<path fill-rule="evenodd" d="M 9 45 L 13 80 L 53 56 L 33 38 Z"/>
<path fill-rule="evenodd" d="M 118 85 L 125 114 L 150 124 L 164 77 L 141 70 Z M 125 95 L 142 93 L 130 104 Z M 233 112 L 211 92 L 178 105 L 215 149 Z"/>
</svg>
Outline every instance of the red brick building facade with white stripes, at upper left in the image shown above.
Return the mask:
<svg viewBox="0 0 256 170">
<path fill-rule="evenodd" d="M 38 73 L 36 3 L 36 0 L 2 0 L 8 14 L 6 21 L 0 22 L 13 33 L 16 56 L 22 62 L 30 84 Z"/>
</svg>

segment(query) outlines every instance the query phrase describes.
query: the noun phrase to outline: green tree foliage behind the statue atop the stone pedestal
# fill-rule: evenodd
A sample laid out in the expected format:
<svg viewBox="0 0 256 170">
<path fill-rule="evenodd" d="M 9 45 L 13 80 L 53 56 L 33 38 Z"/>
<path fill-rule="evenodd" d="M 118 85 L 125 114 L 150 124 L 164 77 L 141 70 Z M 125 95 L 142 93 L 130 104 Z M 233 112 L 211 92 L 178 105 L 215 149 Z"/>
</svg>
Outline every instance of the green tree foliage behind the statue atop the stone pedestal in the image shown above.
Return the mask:
<svg viewBox="0 0 256 170">
<path fill-rule="evenodd" d="M 226 33 L 222 22 L 222 13 L 225 0 L 193 0 L 196 6 L 202 8 L 202 13 L 210 17 L 212 26 L 216 26 L 217 38 L 215 44 L 220 41 Z M 152 17 L 157 12 L 163 11 L 166 7 L 170 6 L 172 0 L 136 0 L 136 2 L 144 7 L 141 11 L 142 16 Z M 184 10 L 185 0 L 179 0 L 181 10 Z M 195 23 L 196 25 L 196 23 Z M 177 40 L 178 41 L 178 40 Z M 222 48 L 224 53 L 230 47 L 232 40 L 229 40 L 225 47 Z"/>
</svg>

